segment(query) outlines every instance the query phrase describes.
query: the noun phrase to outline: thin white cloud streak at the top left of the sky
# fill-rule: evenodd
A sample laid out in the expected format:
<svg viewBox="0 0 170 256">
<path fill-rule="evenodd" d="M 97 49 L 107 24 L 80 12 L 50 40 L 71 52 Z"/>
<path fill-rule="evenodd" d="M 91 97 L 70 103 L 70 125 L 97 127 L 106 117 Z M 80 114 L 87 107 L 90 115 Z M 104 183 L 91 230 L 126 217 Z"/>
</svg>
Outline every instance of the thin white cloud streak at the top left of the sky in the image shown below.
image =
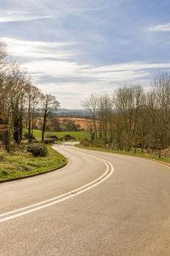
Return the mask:
<svg viewBox="0 0 170 256">
<path fill-rule="evenodd" d="M 98 0 L 99 1 L 99 0 Z M 21 2 L 21 1 L 20 1 Z M 46 1 L 45 1 L 46 2 Z M 29 20 L 40 20 L 40 19 L 51 19 L 60 18 L 67 15 L 82 15 L 88 11 L 99 11 L 105 9 L 106 7 L 85 7 L 84 4 L 80 4 L 74 1 L 51 1 L 52 8 L 49 8 L 50 4 L 48 2 L 42 3 L 41 1 L 29 0 L 23 1 L 23 3 L 18 4 L 18 10 L 14 11 L 3 10 L 0 11 L 0 23 L 6 22 L 16 22 L 16 21 L 29 21 Z M 24 6 L 24 8 L 23 8 Z M 23 9 L 33 9 L 32 12 L 24 11 Z M 38 9 L 38 12 L 36 11 Z M 35 11 L 34 11 L 35 10 Z"/>
</svg>

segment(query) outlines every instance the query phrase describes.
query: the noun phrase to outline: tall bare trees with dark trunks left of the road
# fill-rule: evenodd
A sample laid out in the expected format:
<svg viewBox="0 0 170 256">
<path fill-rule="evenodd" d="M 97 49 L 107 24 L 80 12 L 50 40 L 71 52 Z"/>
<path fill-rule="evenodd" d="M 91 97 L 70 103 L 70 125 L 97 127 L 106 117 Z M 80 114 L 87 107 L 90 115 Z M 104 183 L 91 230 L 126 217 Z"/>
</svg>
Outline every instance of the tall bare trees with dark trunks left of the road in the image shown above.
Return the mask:
<svg viewBox="0 0 170 256">
<path fill-rule="evenodd" d="M 9 61 L 6 49 L 6 44 L 0 42 L 0 140 L 9 152 L 12 142 L 19 144 L 22 140 L 24 120 L 31 143 L 37 108 L 42 109 L 43 142 L 48 116 L 59 108 L 59 102 L 31 84 L 26 70 Z"/>
</svg>

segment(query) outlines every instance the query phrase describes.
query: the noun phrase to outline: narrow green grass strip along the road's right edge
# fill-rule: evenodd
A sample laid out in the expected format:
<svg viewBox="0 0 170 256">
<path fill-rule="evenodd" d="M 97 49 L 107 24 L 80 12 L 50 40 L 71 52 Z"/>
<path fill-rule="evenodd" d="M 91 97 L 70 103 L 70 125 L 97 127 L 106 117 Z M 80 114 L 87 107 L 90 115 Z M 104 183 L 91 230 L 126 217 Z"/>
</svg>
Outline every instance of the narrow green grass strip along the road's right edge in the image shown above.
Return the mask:
<svg viewBox="0 0 170 256">
<path fill-rule="evenodd" d="M 76 145 L 76 147 L 77 148 L 90 149 L 90 150 L 96 150 L 96 151 L 110 152 L 110 153 L 115 153 L 115 154 L 133 155 L 133 156 L 138 156 L 138 157 L 149 158 L 149 159 L 152 159 L 152 160 L 159 160 L 159 161 L 162 161 L 162 162 L 170 164 L 170 158 L 161 157 L 161 159 L 159 159 L 159 157 L 157 155 L 153 155 L 153 154 L 146 154 L 146 153 L 145 154 L 141 154 L 139 152 L 137 152 L 135 154 L 133 151 L 126 152 L 126 151 L 119 151 L 119 150 L 107 149 L 107 148 L 85 147 L 85 146 L 82 146 L 81 144 Z"/>
</svg>

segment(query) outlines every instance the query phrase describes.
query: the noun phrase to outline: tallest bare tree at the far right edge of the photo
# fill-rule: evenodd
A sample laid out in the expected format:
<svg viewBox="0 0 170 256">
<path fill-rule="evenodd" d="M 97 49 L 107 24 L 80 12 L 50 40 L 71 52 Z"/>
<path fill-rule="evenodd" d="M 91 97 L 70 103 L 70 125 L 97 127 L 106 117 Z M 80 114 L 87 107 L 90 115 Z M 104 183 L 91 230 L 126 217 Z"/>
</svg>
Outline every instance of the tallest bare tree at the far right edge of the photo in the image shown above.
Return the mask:
<svg viewBox="0 0 170 256">
<path fill-rule="evenodd" d="M 151 84 L 147 110 L 152 123 L 152 147 L 159 150 L 170 144 L 170 75 L 162 73 Z"/>
</svg>

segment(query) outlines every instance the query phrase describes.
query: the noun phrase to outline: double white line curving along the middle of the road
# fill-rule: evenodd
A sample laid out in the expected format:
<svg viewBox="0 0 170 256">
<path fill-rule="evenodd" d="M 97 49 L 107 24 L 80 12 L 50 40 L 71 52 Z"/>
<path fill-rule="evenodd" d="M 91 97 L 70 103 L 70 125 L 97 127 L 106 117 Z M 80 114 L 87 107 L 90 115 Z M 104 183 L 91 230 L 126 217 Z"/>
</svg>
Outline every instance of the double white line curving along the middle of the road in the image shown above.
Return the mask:
<svg viewBox="0 0 170 256">
<path fill-rule="evenodd" d="M 84 154 L 84 153 L 81 152 L 81 154 Z M 20 208 L 20 209 L 17 209 L 17 210 L 11 211 L 11 212 L 5 212 L 5 213 L 3 213 L 3 214 L 0 214 L 0 217 L 3 217 L 3 216 L 6 216 L 6 215 L 9 215 L 9 214 L 13 214 L 14 212 L 20 212 L 20 213 L 14 214 L 14 215 L 12 215 L 12 216 L 8 216 L 8 217 L 6 217 L 6 218 L 1 218 L 1 219 L 0 219 L 0 223 L 5 222 L 5 221 L 7 221 L 7 220 L 9 220 L 9 219 L 12 219 L 12 218 L 18 218 L 18 217 L 20 217 L 20 216 L 26 215 L 26 214 L 31 213 L 31 212 L 36 212 L 36 211 L 41 210 L 41 209 L 43 209 L 43 208 L 50 207 L 50 206 L 53 206 L 53 205 L 55 205 L 55 204 L 58 204 L 59 202 L 65 201 L 65 200 L 67 200 L 67 199 L 69 199 L 69 198 L 71 198 L 71 197 L 74 197 L 74 196 L 76 196 L 76 195 L 80 195 L 80 194 L 82 194 L 83 192 L 85 192 L 85 191 L 87 191 L 87 190 L 89 190 L 89 189 L 93 189 L 95 186 L 99 185 L 100 183 L 103 183 L 103 182 L 104 182 L 107 178 L 109 178 L 109 177 L 112 175 L 112 173 L 114 172 L 114 167 L 112 166 L 112 164 L 111 164 L 109 161 L 103 160 L 103 159 L 98 158 L 98 157 L 94 157 L 94 156 L 89 155 L 89 154 L 85 154 L 85 155 L 88 155 L 88 157 L 92 157 L 92 158 L 94 158 L 94 159 L 96 159 L 96 160 L 99 160 L 99 161 L 103 162 L 103 163 L 105 164 L 105 166 L 106 166 L 106 171 L 105 171 L 105 173 L 102 174 L 100 177 L 94 179 L 94 181 L 92 181 L 92 182 L 90 182 L 90 183 L 88 183 L 88 184 L 86 184 L 86 185 L 83 185 L 83 186 L 80 187 L 80 188 L 71 190 L 70 192 L 65 193 L 65 194 L 63 194 L 63 195 L 56 196 L 56 197 L 51 198 L 51 199 L 48 199 L 48 200 L 46 200 L 46 201 L 41 201 L 41 202 L 39 202 L 39 203 L 37 203 L 37 204 L 31 205 L 31 206 L 28 206 L 28 207 L 22 207 L 22 208 Z M 110 166 L 111 166 L 111 172 L 109 172 L 109 167 L 110 167 Z M 109 172 L 109 173 L 108 173 L 108 172 Z M 106 174 L 107 174 L 107 175 L 106 175 Z M 105 176 L 105 175 L 106 175 L 106 176 Z M 87 187 L 88 187 L 88 188 L 87 188 Z M 80 191 L 78 191 L 78 190 L 80 190 Z M 66 196 L 66 195 L 67 195 L 67 196 Z M 64 197 L 64 196 L 65 196 L 65 197 Z M 61 197 L 64 197 L 64 198 L 61 198 Z M 59 198 L 61 198 L 61 199 L 59 199 Z M 58 200 L 56 200 L 56 199 L 58 199 Z M 50 202 L 50 201 L 52 201 L 52 202 Z M 50 203 L 48 203 L 48 202 L 50 202 Z M 46 204 L 45 204 L 45 203 L 46 203 Z M 40 206 L 40 205 L 42 205 L 42 204 L 45 204 L 45 205 Z M 37 206 L 40 206 L 40 207 L 37 207 Z M 21 212 L 21 211 L 23 211 L 23 210 L 26 210 L 26 209 L 29 209 L 29 208 L 32 208 L 32 207 L 36 207 L 36 208 L 33 208 L 33 209 L 28 210 L 28 211 L 25 211 L 25 212 Z"/>
</svg>

